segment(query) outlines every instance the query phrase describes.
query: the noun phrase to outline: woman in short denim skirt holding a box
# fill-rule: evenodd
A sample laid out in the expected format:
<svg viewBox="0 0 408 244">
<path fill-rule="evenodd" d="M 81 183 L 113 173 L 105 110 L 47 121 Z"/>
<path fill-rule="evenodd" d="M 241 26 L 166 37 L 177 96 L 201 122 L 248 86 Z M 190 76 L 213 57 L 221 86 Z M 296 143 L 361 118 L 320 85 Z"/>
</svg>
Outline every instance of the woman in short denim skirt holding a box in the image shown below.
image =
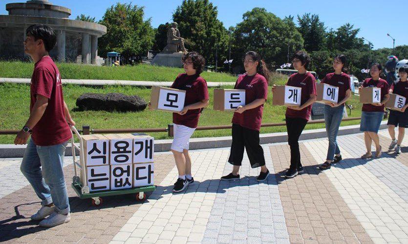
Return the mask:
<svg viewBox="0 0 408 244">
<path fill-rule="evenodd" d="M 375 157 L 381 156 L 380 138 L 378 137 L 378 130 L 380 129 L 381 121 L 384 116 L 384 104 L 388 101 L 389 91 L 386 80 L 380 78 L 383 67 L 379 63 L 374 63 L 370 68 L 371 78 L 365 79 L 363 85 L 359 87 L 359 93 L 363 87 L 377 87 L 381 88 L 381 102 L 363 104 L 363 112 L 361 114 L 360 131 L 364 131 L 364 142 L 367 152 L 361 156 L 362 159 L 372 158 L 371 141 L 375 143 Z"/>
</svg>

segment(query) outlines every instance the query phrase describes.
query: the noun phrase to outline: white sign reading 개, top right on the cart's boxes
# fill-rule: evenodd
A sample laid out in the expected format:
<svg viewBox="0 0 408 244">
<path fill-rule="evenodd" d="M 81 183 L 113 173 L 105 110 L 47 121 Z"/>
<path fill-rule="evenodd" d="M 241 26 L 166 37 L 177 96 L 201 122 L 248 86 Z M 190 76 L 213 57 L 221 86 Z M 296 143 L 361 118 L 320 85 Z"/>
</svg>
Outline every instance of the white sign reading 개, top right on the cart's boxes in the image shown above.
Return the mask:
<svg viewBox="0 0 408 244">
<path fill-rule="evenodd" d="M 154 138 L 140 137 L 133 139 L 133 163 L 153 162 Z"/>
</svg>

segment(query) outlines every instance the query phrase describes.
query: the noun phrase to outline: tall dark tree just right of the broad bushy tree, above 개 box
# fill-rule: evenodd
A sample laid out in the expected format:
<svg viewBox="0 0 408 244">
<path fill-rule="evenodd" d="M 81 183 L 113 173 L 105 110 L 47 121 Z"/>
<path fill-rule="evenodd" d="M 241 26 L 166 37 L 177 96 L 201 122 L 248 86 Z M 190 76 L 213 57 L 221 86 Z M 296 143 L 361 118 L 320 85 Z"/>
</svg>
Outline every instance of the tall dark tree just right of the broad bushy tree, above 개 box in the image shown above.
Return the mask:
<svg viewBox="0 0 408 244">
<path fill-rule="evenodd" d="M 298 31 L 304 40 L 304 48 L 308 52 L 321 51 L 325 46 L 326 27 L 319 15 L 310 13 L 298 15 Z"/>
</svg>

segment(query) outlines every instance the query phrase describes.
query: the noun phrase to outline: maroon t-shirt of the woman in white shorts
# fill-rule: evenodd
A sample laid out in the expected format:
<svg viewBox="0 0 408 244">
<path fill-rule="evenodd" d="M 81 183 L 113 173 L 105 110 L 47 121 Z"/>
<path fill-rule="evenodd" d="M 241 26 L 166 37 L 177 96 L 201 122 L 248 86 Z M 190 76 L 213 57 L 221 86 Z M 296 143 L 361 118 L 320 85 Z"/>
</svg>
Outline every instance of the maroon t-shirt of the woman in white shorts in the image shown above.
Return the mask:
<svg viewBox="0 0 408 244">
<path fill-rule="evenodd" d="M 210 99 L 210 96 L 208 95 L 207 82 L 198 75 L 189 76 L 186 73 L 180 74 L 177 76 L 171 87 L 186 91 L 184 106 Z M 187 111 L 185 115 L 173 113 L 173 123 L 195 128 L 197 127 L 201 110 L 201 108 L 191 109 Z"/>
</svg>

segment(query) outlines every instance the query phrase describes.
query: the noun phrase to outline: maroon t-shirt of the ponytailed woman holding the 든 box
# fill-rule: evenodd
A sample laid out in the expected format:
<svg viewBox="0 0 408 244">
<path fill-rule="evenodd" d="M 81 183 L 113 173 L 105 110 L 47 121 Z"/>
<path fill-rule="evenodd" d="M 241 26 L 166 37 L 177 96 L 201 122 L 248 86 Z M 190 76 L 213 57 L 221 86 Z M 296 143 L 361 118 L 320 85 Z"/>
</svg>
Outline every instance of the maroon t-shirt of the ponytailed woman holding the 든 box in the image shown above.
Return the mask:
<svg viewBox="0 0 408 244">
<path fill-rule="evenodd" d="M 234 88 L 245 90 L 245 104 L 254 102 L 257 99 L 265 99 L 265 101 L 268 99 L 268 81 L 258 73 L 254 76 L 248 76 L 247 74 L 240 75 Z M 256 108 L 245 110 L 242 114 L 234 113 L 232 123 L 259 131 L 262 115 L 263 104 Z"/>
</svg>

